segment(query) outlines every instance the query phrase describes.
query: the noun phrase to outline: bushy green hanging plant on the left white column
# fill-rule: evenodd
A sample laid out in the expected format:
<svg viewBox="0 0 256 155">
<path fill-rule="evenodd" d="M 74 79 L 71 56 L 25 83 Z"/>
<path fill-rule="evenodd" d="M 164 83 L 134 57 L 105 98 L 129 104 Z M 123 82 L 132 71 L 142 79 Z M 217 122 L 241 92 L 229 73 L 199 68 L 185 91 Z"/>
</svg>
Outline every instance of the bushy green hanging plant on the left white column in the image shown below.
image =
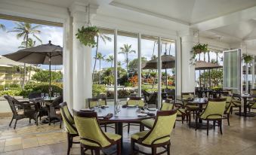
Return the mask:
<svg viewBox="0 0 256 155">
<path fill-rule="evenodd" d="M 97 42 L 95 41 L 94 37 L 98 35 L 99 29 L 97 29 L 96 26 L 88 26 L 86 28 L 82 26 L 81 29 L 78 29 L 78 32 L 76 33 L 76 38 L 78 38 L 79 41 L 85 46 L 95 47 Z"/>
</svg>

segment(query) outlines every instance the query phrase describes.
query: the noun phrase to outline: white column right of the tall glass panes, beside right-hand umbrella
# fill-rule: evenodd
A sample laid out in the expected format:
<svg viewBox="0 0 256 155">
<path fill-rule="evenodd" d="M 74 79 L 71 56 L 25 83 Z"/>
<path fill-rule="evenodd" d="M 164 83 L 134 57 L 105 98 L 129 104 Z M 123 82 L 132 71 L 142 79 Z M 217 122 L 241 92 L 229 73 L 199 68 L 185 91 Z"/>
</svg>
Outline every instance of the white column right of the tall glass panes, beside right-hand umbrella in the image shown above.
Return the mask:
<svg viewBox="0 0 256 155">
<path fill-rule="evenodd" d="M 190 53 L 193 47 L 193 32 L 181 37 L 181 91 L 182 93 L 195 91 L 195 66 L 190 64 Z"/>
</svg>

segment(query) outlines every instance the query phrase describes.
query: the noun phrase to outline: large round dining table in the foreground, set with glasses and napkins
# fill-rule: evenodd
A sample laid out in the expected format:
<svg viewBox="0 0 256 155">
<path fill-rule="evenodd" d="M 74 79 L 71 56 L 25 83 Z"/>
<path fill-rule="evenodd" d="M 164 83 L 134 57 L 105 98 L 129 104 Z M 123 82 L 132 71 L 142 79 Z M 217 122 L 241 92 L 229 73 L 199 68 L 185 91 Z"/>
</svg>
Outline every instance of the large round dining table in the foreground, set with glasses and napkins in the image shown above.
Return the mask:
<svg viewBox="0 0 256 155">
<path fill-rule="evenodd" d="M 155 118 L 156 117 L 156 111 L 146 111 L 150 112 L 150 115 L 140 117 L 138 114 L 140 114 L 140 108 L 137 108 L 136 106 L 127 106 L 125 108 L 120 108 L 120 111 L 118 114 L 114 114 L 114 106 L 109 105 L 106 108 L 97 108 L 94 109 L 95 112 L 97 112 L 98 119 L 101 122 L 113 122 L 116 124 L 115 132 L 116 134 L 119 134 L 123 137 L 123 123 L 140 123 L 140 120 L 149 119 L 149 118 Z M 106 116 L 106 114 L 114 114 L 113 117 L 109 119 L 103 119 L 103 116 Z M 152 115 L 154 114 L 154 115 Z M 139 132 L 139 131 L 137 131 Z M 121 139 L 121 145 L 122 145 L 122 154 L 130 154 L 131 151 L 131 144 L 130 141 L 124 141 L 124 139 Z M 111 154 L 116 150 L 116 147 L 109 147 L 107 149 L 104 149 L 103 152 L 106 154 Z"/>
</svg>

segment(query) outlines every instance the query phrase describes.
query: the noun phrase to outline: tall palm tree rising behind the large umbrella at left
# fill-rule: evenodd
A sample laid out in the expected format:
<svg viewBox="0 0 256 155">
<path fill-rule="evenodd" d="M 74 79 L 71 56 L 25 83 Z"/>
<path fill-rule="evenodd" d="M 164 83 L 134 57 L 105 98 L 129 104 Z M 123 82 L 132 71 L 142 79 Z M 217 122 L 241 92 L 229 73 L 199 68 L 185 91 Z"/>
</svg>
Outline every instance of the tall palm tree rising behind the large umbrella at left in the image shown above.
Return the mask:
<svg viewBox="0 0 256 155">
<path fill-rule="evenodd" d="M 17 32 L 17 38 L 23 38 L 23 42 L 21 43 L 26 48 L 29 47 L 29 35 L 32 35 L 35 39 L 42 43 L 41 39 L 35 34 L 40 34 L 41 32 L 38 30 L 40 25 L 32 26 L 31 23 L 15 23 L 14 29 L 8 32 Z M 24 42 L 25 41 L 25 42 Z M 26 78 L 26 63 L 24 63 L 24 75 L 23 75 L 23 88 L 25 85 Z"/>
</svg>

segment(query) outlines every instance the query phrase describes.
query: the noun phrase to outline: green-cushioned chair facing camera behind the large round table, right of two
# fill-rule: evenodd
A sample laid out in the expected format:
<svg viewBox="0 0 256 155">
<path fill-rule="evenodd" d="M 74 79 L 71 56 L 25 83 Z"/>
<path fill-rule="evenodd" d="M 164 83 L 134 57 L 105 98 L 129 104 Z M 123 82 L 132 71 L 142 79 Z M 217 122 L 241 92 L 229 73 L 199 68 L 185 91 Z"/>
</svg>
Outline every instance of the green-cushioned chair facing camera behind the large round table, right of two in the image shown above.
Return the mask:
<svg viewBox="0 0 256 155">
<path fill-rule="evenodd" d="M 129 97 L 127 98 L 126 105 L 138 105 L 139 107 L 143 107 L 145 105 L 143 97 Z M 125 126 L 128 126 L 128 133 L 130 132 L 130 126 L 140 126 L 140 121 L 137 123 L 127 123 Z M 123 127 L 125 127 L 123 126 Z M 141 130 L 141 127 L 140 127 Z"/>
</svg>

